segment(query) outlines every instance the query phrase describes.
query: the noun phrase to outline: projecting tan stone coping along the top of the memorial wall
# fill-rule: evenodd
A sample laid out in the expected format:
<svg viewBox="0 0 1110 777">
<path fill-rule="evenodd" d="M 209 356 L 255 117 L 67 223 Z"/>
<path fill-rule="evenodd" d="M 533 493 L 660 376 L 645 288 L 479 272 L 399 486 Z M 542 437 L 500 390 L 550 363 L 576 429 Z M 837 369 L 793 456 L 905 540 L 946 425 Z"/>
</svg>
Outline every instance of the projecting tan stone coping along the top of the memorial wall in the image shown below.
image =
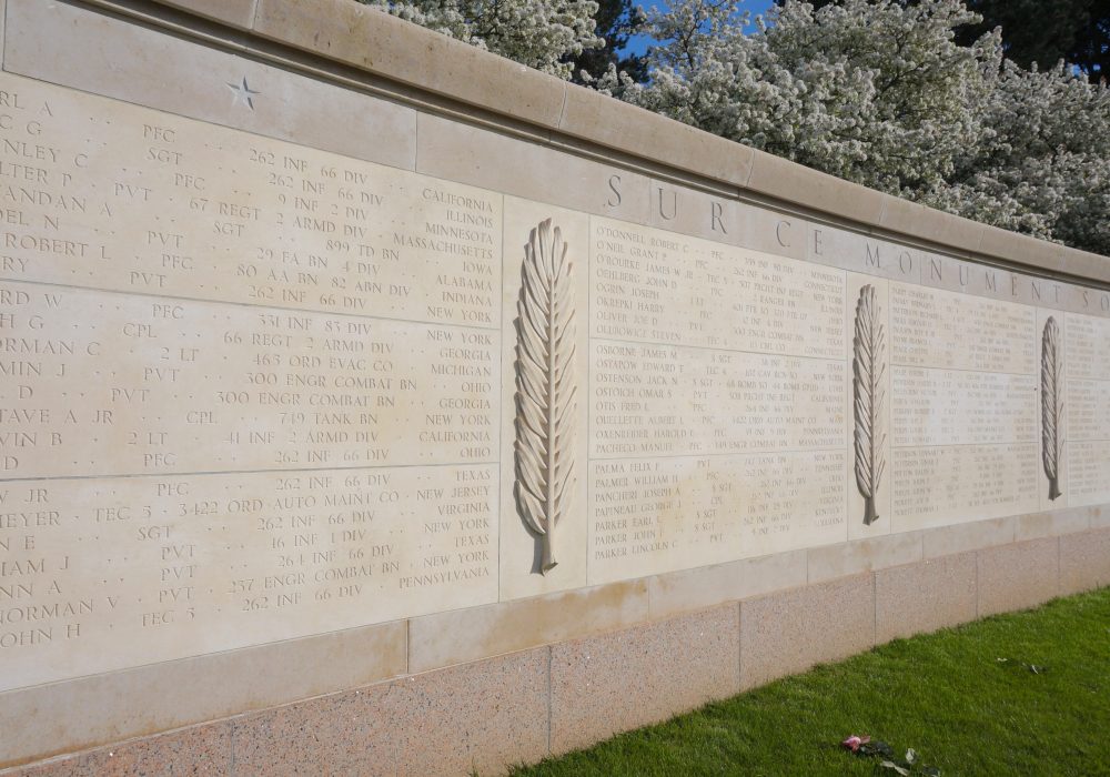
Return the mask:
<svg viewBox="0 0 1110 777">
<path fill-rule="evenodd" d="M 90 0 L 121 9 L 125 0 Z M 885 194 L 694 129 L 432 32 L 353 0 L 152 0 L 490 112 L 547 142 L 628 155 L 739 198 L 800 208 L 970 259 L 1110 284 L 1110 260 Z M 121 10 L 134 8 L 128 2 Z"/>
</svg>

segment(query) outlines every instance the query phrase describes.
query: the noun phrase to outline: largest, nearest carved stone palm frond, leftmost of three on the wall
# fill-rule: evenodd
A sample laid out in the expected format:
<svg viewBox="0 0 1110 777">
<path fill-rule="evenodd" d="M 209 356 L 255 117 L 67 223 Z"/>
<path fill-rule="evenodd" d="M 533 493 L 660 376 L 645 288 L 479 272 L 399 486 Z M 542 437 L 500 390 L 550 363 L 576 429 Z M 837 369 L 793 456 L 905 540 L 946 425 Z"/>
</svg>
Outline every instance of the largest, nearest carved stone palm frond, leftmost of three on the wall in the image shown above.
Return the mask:
<svg viewBox="0 0 1110 777">
<path fill-rule="evenodd" d="M 516 303 L 516 506 L 542 544 L 539 572 L 555 561 L 555 527 L 576 482 L 573 264 L 547 219 L 524 246 Z"/>
</svg>

